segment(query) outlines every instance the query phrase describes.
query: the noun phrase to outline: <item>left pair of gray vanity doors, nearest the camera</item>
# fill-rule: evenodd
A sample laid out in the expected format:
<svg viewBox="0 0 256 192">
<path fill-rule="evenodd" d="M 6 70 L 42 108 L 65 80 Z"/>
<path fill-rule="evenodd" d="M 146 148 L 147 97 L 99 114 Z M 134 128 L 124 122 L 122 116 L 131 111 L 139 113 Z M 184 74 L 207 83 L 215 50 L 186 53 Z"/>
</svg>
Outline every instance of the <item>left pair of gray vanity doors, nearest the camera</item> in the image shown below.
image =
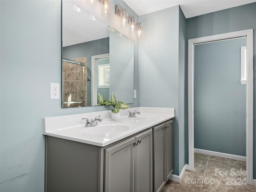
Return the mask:
<svg viewBox="0 0 256 192">
<path fill-rule="evenodd" d="M 105 150 L 105 192 L 152 192 L 152 129 Z"/>
</svg>

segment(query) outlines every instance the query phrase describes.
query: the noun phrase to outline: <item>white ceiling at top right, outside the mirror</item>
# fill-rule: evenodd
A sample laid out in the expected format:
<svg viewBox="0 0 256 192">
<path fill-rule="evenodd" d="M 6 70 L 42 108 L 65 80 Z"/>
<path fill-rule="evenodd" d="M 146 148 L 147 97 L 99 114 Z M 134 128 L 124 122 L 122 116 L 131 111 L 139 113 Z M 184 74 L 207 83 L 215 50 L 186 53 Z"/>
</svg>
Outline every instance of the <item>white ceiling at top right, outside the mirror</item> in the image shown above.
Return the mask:
<svg viewBox="0 0 256 192">
<path fill-rule="evenodd" d="M 124 2 L 139 16 L 180 5 L 184 16 L 191 18 L 256 2 L 256 0 L 124 0 Z"/>
</svg>

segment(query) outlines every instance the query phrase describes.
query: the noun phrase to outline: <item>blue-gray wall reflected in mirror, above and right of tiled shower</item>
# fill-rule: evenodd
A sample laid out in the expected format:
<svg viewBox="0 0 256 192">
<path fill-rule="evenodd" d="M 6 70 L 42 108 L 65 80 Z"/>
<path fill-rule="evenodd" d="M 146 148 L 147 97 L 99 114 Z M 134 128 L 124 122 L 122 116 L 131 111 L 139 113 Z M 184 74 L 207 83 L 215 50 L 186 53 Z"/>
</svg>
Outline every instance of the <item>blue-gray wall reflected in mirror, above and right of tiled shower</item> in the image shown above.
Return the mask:
<svg viewBox="0 0 256 192">
<path fill-rule="evenodd" d="M 92 56 L 109 53 L 109 38 L 63 47 L 63 58 L 87 58 L 87 76 L 92 78 Z M 87 106 L 92 105 L 91 81 L 87 81 Z"/>
</svg>

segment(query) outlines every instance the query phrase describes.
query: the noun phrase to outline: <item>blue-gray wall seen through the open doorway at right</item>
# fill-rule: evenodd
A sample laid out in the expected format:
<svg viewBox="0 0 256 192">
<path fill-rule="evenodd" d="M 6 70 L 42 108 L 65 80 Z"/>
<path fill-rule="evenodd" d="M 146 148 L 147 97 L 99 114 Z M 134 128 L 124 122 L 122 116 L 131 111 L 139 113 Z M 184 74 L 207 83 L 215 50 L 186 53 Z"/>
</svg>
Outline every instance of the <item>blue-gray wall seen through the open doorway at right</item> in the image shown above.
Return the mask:
<svg viewBox="0 0 256 192">
<path fill-rule="evenodd" d="M 194 148 L 246 156 L 246 38 L 194 47 Z"/>
</svg>

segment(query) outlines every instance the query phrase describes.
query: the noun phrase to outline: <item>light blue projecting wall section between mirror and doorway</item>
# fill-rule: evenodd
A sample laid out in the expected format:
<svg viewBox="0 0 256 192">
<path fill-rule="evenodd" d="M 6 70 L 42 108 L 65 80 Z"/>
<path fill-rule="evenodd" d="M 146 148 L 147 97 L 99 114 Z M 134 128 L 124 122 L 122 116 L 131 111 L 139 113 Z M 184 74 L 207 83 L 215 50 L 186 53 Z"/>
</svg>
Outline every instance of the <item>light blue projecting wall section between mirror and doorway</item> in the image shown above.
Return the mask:
<svg viewBox="0 0 256 192">
<path fill-rule="evenodd" d="M 186 20 L 179 6 L 140 16 L 140 106 L 175 108 L 174 174 L 185 165 L 184 68 Z"/>
</svg>

